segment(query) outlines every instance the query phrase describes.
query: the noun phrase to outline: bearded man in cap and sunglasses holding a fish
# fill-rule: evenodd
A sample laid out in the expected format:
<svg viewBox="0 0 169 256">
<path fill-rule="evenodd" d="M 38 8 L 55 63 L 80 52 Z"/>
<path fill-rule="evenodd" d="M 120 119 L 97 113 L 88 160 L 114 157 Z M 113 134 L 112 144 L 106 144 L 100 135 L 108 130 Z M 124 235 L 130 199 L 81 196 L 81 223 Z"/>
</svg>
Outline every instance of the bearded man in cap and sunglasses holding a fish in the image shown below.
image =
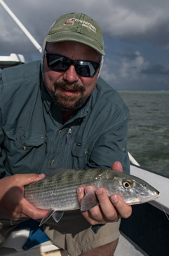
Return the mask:
<svg viewBox="0 0 169 256">
<path fill-rule="evenodd" d="M 13 227 L 27 220 L 22 217 L 39 219 L 47 213 L 23 198 L 23 186 L 44 177 L 30 173 L 52 167 L 129 172 L 128 109 L 119 94 L 98 79 L 103 55 L 97 23 L 83 13 L 68 13 L 50 27 L 41 67 L 33 62 L 1 73 L 0 164 L 1 172 L 13 176 L 1 180 L 8 186 L 0 206 L 1 213 L 15 220 Z M 79 204 L 86 191 L 78 189 Z M 100 206 L 70 211 L 58 224 L 50 219 L 43 225 L 50 240 L 69 255 L 114 253 L 118 220 L 130 216 L 131 208 L 120 196 L 109 199 L 104 188 L 96 194 Z M 13 228 L 4 215 L 0 241 Z"/>
</svg>

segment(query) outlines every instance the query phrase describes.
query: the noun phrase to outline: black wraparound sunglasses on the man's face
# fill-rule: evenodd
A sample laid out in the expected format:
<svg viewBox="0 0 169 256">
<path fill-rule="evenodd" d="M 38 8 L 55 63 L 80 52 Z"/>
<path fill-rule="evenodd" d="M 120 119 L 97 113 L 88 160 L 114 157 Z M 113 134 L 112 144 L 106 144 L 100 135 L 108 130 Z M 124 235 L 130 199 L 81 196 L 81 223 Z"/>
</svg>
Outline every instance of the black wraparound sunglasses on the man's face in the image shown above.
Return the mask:
<svg viewBox="0 0 169 256">
<path fill-rule="evenodd" d="M 76 73 L 79 76 L 91 77 L 94 76 L 100 63 L 88 60 L 71 60 L 57 53 L 48 53 L 45 50 L 45 55 L 48 63 L 48 68 L 56 72 L 66 72 L 71 65 L 74 65 Z"/>
</svg>

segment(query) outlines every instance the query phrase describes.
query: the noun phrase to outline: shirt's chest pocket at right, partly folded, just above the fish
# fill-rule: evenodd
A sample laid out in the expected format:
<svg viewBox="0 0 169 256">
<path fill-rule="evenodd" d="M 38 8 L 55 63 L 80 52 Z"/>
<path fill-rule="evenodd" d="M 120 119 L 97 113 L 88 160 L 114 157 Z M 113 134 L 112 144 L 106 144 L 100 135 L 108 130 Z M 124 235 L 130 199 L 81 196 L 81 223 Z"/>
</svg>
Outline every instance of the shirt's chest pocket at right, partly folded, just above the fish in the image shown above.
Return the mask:
<svg viewBox="0 0 169 256">
<path fill-rule="evenodd" d="M 76 142 L 72 148 L 73 168 L 83 169 L 90 159 L 91 151 L 93 150 L 93 142 Z"/>
</svg>

